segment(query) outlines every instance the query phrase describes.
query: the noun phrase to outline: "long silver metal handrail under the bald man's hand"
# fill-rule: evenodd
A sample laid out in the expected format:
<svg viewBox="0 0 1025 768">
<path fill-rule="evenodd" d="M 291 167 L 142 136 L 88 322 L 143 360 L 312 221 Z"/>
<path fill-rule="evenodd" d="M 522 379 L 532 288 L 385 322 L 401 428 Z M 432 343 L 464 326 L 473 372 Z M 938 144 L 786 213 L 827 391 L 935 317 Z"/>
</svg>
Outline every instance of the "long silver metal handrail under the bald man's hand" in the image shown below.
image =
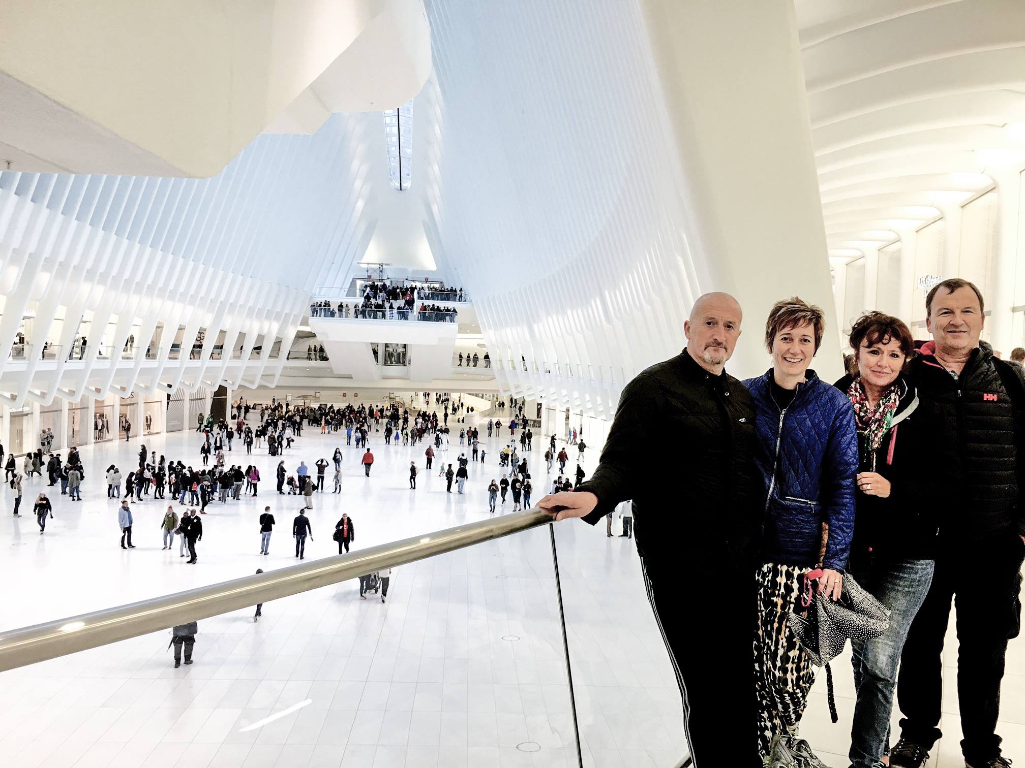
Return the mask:
<svg viewBox="0 0 1025 768">
<path fill-rule="evenodd" d="M 0 633 L 0 672 L 327 587 L 519 534 L 550 521 L 547 513 L 534 507 L 353 554 L 333 555 L 266 573 L 3 632 Z"/>
</svg>

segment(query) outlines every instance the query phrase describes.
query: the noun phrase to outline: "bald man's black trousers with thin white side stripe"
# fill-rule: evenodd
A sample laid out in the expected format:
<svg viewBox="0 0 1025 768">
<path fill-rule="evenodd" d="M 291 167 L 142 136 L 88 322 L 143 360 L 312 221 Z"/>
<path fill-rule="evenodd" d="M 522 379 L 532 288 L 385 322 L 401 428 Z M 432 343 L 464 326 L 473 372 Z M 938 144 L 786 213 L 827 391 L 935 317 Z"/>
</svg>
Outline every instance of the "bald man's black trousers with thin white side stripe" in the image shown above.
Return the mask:
<svg viewBox="0 0 1025 768">
<path fill-rule="evenodd" d="M 684 734 L 695 768 L 762 768 L 751 663 L 754 575 L 735 562 L 701 560 L 681 554 L 664 565 L 641 561 L 683 698 Z"/>
</svg>

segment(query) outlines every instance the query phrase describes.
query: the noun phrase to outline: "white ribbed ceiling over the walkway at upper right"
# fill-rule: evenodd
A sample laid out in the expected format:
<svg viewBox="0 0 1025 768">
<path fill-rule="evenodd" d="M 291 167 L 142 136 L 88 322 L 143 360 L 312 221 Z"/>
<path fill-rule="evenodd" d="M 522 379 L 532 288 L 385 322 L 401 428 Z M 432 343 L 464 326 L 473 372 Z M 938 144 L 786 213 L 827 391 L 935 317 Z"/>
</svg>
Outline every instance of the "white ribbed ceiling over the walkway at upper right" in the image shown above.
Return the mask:
<svg viewBox="0 0 1025 768">
<path fill-rule="evenodd" d="M 1025 159 L 1025 4 L 796 0 L 831 249 L 887 245 Z M 910 207 L 910 208 L 909 208 Z"/>
</svg>

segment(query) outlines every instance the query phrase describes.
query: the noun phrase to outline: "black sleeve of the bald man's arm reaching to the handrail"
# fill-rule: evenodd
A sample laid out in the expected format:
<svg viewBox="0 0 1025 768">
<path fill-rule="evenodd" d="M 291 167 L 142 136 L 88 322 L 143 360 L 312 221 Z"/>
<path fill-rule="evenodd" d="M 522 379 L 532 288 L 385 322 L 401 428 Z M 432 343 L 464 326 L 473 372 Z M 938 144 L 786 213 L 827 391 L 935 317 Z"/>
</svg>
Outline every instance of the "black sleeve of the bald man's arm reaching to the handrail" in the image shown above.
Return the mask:
<svg viewBox="0 0 1025 768">
<path fill-rule="evenodd" d="M 598 505 L 583 517 L 591 525 L 620 502 L 633 498 L 642 477 L 644 446 L 655 434 L 651 415 L 663 413 L 663 404 L 661 386 L 647 374 L 640 374 L 623 387 L 598 468 L 576 488 L 598 497 Z"/>
</svg>

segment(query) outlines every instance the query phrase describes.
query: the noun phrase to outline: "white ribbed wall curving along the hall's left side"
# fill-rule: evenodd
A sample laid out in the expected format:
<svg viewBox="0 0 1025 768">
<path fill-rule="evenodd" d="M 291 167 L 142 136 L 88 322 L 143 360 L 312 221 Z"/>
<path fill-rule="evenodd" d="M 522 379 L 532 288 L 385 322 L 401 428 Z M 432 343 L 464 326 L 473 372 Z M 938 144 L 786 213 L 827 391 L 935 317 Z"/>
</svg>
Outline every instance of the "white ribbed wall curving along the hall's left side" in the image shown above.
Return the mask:
<svg viewBox="0 0 1025 768">
<path fill-rule="evenodd" d="M 273 383 L 272 348 L 290 346 L 311 288 L 347 272 L 372 231 L 371 125 L 336 115 L 314 136 L 259 136 L 209 179 L 0 173 L 0 400 Z M 31 351 L 8 357 L 26 312 Z M 44 341 L 61 353 L 40 359 Z"/>
</svg>

